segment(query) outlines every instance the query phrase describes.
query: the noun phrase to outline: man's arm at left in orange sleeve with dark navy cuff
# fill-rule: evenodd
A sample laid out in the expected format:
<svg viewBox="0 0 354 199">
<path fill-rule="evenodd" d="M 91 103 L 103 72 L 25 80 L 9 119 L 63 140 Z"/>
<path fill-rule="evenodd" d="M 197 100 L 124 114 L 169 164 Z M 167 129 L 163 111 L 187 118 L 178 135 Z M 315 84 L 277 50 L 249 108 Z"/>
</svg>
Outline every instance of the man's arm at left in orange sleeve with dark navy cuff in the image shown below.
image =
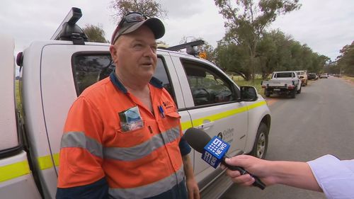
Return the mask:
<svg viewBox="0 0 354 199">
<path fill-rule="evenodd" d="M 60 144 L 57 198 L 108 198 L 98 113 L 79 97 L 69 110 Z"/>
</svg>

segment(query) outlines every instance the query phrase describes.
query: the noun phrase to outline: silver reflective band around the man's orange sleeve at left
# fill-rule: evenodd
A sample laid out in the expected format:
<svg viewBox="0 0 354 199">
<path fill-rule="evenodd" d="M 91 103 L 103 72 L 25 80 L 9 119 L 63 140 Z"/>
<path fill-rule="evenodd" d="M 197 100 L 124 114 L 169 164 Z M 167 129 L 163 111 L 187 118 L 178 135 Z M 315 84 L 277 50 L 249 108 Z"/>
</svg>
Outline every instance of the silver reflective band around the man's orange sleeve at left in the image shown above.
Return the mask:
<svg viewBox="0 0 354 199">
<path fill-rule="evenodd" d="M 62 136 L 60 148 L 79 147 L 88 150 L 96 157 L 103 158 L 102 144 L 98 143 L 91 137 L 87 137 L 84 132 L 67 132 Z"/>
</svg>

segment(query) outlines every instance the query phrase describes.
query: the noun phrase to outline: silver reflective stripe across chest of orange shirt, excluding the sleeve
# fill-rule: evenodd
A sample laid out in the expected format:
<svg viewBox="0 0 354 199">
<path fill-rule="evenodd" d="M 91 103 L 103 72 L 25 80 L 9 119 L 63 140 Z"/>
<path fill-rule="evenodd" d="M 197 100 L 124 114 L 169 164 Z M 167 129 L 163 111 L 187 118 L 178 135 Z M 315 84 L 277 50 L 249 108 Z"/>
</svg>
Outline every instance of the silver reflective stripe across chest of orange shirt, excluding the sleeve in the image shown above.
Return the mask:
<svg viewBox="0 0 354 199">
<path fill-rule="evenodd" d="M 105 147 L 104 157 L 107 159 L 117 159 L 121 161 L 134 161 L 146 157 L 159 147 L 180 137 L 180 128 L 174 127 L 164 133 L 154 135 L 152 139 L 138 144 L 134 147 Z"/>
</svg>

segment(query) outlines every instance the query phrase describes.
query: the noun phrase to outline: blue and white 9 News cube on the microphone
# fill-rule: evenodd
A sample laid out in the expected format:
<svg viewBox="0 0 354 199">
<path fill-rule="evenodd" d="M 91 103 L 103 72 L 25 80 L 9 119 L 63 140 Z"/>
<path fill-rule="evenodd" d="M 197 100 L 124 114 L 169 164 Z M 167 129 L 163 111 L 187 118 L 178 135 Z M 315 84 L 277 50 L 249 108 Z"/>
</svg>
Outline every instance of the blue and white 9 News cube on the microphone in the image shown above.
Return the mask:
<svg viewBox="0 0 354 199">
<path fill-rule="evenodd" d="M 214 136 L 204 147 L 202 159 L 216 169 L 224 155 L 227 153 L 227 150 L 229 150 L 229 147 L 230 145 L 227 142 Z"/>
</svg>

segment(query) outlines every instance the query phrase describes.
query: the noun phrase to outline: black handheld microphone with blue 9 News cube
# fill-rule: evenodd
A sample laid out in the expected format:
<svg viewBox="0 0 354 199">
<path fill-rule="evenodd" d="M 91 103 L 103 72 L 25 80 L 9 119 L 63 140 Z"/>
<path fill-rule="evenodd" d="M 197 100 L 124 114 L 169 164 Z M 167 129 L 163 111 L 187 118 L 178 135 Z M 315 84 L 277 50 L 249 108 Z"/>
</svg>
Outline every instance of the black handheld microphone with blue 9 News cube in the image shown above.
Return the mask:
<svg viewBox="0 0 354 199">
<path fill-rule="evenodd" d="M 206 132 L 197 129 L 197 128 L 189 128 L 185 131 L 183 135 L 184 139 L 190 144 L 190 147 L 195 149 L 195 151 L 200 152 L 202 154 L 202 159 L 217 168 L 219 163 L 224 164 L 228 169 L 232 171 L 239 171 L 241 175 L 249 174 L 241 166 L 232 166 L 225 162 L 225 158 L 229 158 L 226 154 L 229 149 L 229 144 L 219 139 L 219 137 L 210 138 Z M 253 186 L 261 188 L 262 190 L 265 188 L 265 184 L 257 177 L 251 175 L 256 181 L 254 181 Z"/>
</svg>

